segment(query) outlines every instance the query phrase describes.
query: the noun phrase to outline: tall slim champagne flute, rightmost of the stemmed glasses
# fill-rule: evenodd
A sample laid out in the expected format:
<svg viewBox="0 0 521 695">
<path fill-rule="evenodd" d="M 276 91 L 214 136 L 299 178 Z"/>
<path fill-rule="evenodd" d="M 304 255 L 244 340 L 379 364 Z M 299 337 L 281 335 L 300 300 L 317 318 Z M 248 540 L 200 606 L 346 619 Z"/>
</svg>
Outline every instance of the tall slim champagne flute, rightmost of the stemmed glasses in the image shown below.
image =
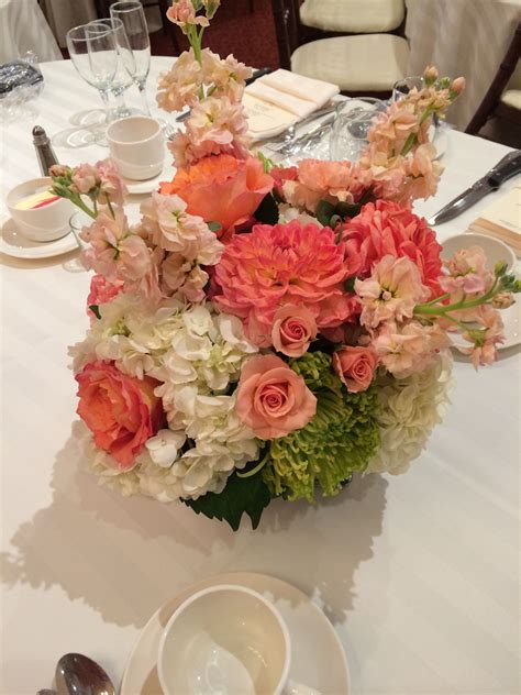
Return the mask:
<svg viewBox="0 0 521 695">
<path fill-rule="evenodd" d="M 140 90 L 143 109 L 146 115 L 151 115 L 146 99 L 146 79 L 151 69 L 151 40 L 143 5 L 137 0 L 115 2 L 110 7 L 110 16 L 123 23 L 135 62 L 135 71 L 132 77 Z"/>
</svg>

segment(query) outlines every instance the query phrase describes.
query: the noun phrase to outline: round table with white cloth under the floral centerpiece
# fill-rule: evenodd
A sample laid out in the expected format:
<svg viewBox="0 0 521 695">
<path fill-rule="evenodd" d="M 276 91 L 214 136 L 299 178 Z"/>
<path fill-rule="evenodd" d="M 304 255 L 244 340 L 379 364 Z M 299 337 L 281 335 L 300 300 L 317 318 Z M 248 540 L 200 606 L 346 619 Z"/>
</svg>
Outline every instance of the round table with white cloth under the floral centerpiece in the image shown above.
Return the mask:
<svg viewBox="0 0 521 695">
<path fill-rule="evenodd" d="M 153 58 L 151 102 L 170 60 Z M 40 175 L 33 125 L 46 129 L 60 163 L 108 156 L 73 146 L 81 114 L 98 107 L 95 90 L 68 60 L 42 70 L 33 110 L 3 126 L 2 230 L 7 191 Z M 138 104 L 133 88 L 126 98 Z M 508 152 L 447 135 L 439 191 L 415 205 L 424 216 Z M 440 240 L 501 195 L 440 225 Z M 230 572 L 284 580 L 323 610 L 352 695 L 520 692 L 519 346 L 477 374 L 455 357 L 452 405 L 407 474 L 357 476 L 314 506 L 276 500 L 256 530 L 243 519 L 233 532 L 182 504 L 121 497 L 88 472 L 67 354 L 88 326 L 90 274 L 77 253 L 0 260 L 2 695 L 51 687 L 66 652 L 95 659 L 119 684 L 149 616 L 191 583 Z"/>
</svg>

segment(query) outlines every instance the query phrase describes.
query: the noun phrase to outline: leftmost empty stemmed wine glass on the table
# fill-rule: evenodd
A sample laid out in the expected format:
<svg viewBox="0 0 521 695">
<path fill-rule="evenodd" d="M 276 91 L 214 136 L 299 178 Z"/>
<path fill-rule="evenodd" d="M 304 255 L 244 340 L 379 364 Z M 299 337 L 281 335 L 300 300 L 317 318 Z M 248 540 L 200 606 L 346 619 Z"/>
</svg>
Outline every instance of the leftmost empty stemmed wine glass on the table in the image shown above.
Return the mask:
<svg viewBox="0 0 521 695">
<path fill-rule="evenodd" d="M 89 31 L 88 24 L 67 32 L 67 48 L 73 65 L 86 82 L 95 87 L 103 101 L 106 122 L 110 121 L 109 93 L 118 67 L 118 47 L 113 32 Z M 102 142 L 103 134 L 93 133 L 93 142 Z"/>
</svg>

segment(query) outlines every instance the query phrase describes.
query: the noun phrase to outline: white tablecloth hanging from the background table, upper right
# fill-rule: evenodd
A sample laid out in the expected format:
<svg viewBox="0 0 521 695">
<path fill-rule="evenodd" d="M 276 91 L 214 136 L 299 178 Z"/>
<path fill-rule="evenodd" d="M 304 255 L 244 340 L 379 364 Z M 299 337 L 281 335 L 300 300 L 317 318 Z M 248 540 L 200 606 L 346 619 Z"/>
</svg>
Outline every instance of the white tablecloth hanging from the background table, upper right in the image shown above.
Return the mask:
<svg viewBox="0 0 521 695">
<path fill-rule="evenodd" d="M 447 120 L 461 130 L 476 113 L 521 21 L 521 0 L 406 0 L 409 75 L 435 65 L 467 79 Z"/>
</svg>

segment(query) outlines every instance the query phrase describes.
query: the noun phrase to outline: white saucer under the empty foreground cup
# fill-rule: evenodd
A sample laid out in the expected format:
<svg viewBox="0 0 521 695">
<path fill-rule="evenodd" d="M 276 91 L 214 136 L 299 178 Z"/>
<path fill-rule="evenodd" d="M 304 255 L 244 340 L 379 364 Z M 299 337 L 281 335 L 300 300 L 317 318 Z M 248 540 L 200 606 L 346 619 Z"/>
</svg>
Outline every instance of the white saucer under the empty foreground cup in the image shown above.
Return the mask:
<svg viewBox="0 0 521 695">
<path fill-rule="evenodd" d="M 322 610 L 290 584 L 264 574 L 220 574 L 193 584 L 159 608 L 143 629 L 126 664 L 120 695 L 159 695 L 156 661 L 159 638 L 174 610 L 196 592 L 214 584 L 237 584 L 271 600 L 291 637 L 290 676 L 322 695 L 348 695 L 350 672 L 342 643 Z"/>
</svg>

